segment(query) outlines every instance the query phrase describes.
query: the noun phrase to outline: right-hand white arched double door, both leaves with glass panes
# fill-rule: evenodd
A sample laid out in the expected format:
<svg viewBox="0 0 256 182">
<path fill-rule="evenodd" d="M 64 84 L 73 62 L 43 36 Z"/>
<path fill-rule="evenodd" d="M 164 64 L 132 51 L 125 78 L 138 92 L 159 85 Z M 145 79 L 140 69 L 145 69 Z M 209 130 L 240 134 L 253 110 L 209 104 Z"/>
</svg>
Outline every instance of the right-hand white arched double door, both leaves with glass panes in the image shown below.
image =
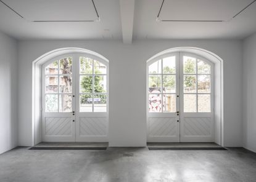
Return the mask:
<svg viewBox="0 0 256 182">
<path fill-rule="evenodd" d="M 176 52 L 147 63 L 147 141 L 214 141 L 214 65 Z"/>
</svg>

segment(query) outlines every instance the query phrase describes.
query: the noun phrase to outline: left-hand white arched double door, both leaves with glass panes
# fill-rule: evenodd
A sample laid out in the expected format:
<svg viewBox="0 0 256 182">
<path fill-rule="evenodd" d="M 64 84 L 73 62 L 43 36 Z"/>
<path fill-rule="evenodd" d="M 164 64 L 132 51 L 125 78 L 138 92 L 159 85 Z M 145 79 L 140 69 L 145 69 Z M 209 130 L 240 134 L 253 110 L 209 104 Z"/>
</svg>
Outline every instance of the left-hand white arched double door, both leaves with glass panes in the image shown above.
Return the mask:
<svg viewBox="0 0 256 182">
<path fill-rule="evenodd" d="M 73 53 L 42 66 L 43 141 L 107 141 L 108 63 Z"/>
</svg>

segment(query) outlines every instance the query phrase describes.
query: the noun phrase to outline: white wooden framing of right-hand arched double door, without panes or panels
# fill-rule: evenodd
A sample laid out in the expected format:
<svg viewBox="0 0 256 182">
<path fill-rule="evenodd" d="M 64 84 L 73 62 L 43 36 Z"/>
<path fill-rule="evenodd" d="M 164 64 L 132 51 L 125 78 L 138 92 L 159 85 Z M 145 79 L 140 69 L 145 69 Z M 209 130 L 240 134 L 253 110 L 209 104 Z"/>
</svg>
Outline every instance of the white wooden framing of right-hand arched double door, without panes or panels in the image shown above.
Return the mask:
<svg viewBox="0 0 256 182">
<path fill-rule="evenodd" d="M 177 48 L 177 49 L 179 49 L 179 48 Z M 188 47 L 187 47 L 187 49 L 188 49 Z M 176 89 L 178 88 L 178 90 L 176 91 L 176 94 L 180 95 L 180 98 L 177 98 L 177 100 L 180 100 L 180 101 L 176 100 L 176 103 L 179 103 L 178 106 L 180 106 L 180 108 L 178 108 L 178 106 L 176 106 L 176 111 L 180 111 L 180 119 L 179 119 L 180 121 L 183 120 L 183 118 L 184 118 L 184 116 L 181 116 L 182 114 L 184 114 L 183 112 L 181 113 L 181 107 L 183 107 L 182 101 L 183 101 L 183 95 L 184 95 L 183 90 L 181 90 L 181 89 L 183 89 L 183 73 L 182 73 L 182 71 L 183 71 L 183 69 L 182 69 L 183 68 L 183 63 L 180 63 L 180 61 L 182 61 L 181 57 L 183 55 L 188 55 L 188 56 L 191 56 L 191 57 L 196 57 L 196 59 L 199 58 L 200 60 L 203 60 L 203 61 L 205 61 L 205 62 L 210 64 L 210 66 L 211 66 L 211 74 L 210 74 L 211 75 L 211 79 L 210 79 L 210 81 L 211 81 L 211 86 L 210 86 L 211 93 L 210 94 L 211 94 L 211 110 L 212 110 L 210 115 L 213 118 L 213 124 L 212 124 L 213 136 L 211 136 L 210 138 L 208 137 L 208 139 L 206 137 L 206 139 L 204 138 L 202 140 L 199 140 L 198 142 L 204 142 L 205 140 L 212 140 L 212 141 L 215 141 L 216 143 L 221 145 L 221 143 L 223 143 L 221 135 L 220 135 L 220 140 L 221 141 L 217 141 L 218 139 L 216 137 L 216 132 L 215 132 L 215 129 L 218 127 L 216 122 L 215 122 L 215 115 L 216 115 L 216 113 L 215 113 L 215 106 L 216 106 L 216 104 L 215 104 L 215 100 L 216 100 L 216 98 L 215 98 L 216 97 L 216 94 L 215 94 L 215 90 L 216 90 L 215 89 L 215 80 L 216 80 L 216 77 L 215 77 L 215 73 L 216 73 L 216 71 L 215 71 L 215 63 L 213 63 L 212 61 L 210 61 L 209 59 L 207 59 L 205 57 L 202 57 L 202 56 L 198 55 L 197 53 L 186 52 L 186 51 L 184 51 L 182 49 L 180 49 L 178 51 L 175 51 L 175 49 L 173 49 L 173 50 L 172 49 L 168 49 L 168 50 L 165 50 L 163 52 L 158 53 L 157 55 L 154 55 L 152 58 L 147 60 L 147 64 L 146 64 L 146 84 L 147 84 L 146 85 L 146 95 L 147 95 L 147 99 L 146 99 L 146 117 L 147 117 L 146 118 L 146 124 L 147 124 L 147 142 L 157 142 L 157 137 L 155 137 L 155 139 L 152 139 L 151 136 L 149 136 L 149 118 L 150 118 L 150 116 L 152 114 L 152 113 L 149 113 L 149 109 L 148 109 L 148 104 L 149 104 L 148 103 L 148 100 L 149 100 L 149 98 L 148 98 L 149 97 L 149 92 L 148 92 L 148 90 L 149 90 L 149 65 L 151 65 L 152 63 L 155 63 L 155 61 L 157 61 L 157 60 L 162 60 L 163 58 L 170 57 L 171 55 L 175 55 L 175 54 L 178 55 L 178 58 L 176 58 L 176 65 L 178 65 L 178 71 L 176 69 L 176 77 L 178 77 L 178 78 L 176 78 L 176 84 L 179 85 L 178 87 L 176 85 Z M 178 64 L 177 64 L 177 60 L 178 60 Z M 177 79 L 178 79 L 178 82 L 177 82 Z M 182 95 L 182 99 L 181 99 L 181 95 Z M 166 116 L 167 113 L 153 113 L 153 114 L 155 114 L 155 117 L 156 116 L 157 117 L 162 117 L 162 118 L 167 117 Z M 191 115 L 191 113 L 188 113 L 188 115 Z M 202 116 L 208 116 L 209 114 L 202 113 L 201 115 Z M 193 113 L 192 113 L 192 117 L 194 117 Z M 179 135 L 180 135 L 179 136 L 179 141 L 174 141 L 174 142 L 195 142 L 195 141 L 197 141 L 196 137 L 189 138 L 189 139 L 188 138 L 184 139 L 184 136 L 181 136 L 181 133 L 183 133 L 183 131 L 181 130 L 181 122 L 178 125 L 180 126 L 180 127 L 178 127 Z M 170 140 L 168 140 L 168 137 L 166 137 L 166 138 L 162 138 L 162 140 L 160 142 L 173 142 L 173 140 L 170 141 Z"/>
</svg>

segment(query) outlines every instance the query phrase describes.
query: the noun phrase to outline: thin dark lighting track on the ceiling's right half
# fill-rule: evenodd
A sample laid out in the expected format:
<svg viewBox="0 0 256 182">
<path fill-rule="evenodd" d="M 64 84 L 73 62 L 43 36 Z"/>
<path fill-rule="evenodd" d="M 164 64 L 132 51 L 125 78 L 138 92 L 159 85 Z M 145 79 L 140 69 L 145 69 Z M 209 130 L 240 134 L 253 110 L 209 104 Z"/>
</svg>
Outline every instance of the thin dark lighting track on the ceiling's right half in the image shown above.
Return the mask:
<svg viewBox="0 0 256 182">
<path fill-rule="evenodd" d="M 244 10 L 246 10 L 249 6 L 251 6 L 252 4 L 254 4 L 254 2 L 256 2 L 256 0 L 250 2 L 249 5 L 247 5 L 246 7 L 244 7 L 244 9 L 242 9 L 241 11 L 239 11 L 236 15 L 234 15 L 230 20 L 226 21 L 226 20 L 160 20 L 159 19 L 159 15 L 162 11 L 162 7 L 163 7 L 163 2 L 165 2 L 165 0 L 162 1 L 162 4 L 160 6 L 159 9 L 159 13 L 157 14 L 157 22 L 228 22 L 230 20 L 232 20 L 233 18 L 235 18 L 237 15 L 241 14 Z"/>
</svg>

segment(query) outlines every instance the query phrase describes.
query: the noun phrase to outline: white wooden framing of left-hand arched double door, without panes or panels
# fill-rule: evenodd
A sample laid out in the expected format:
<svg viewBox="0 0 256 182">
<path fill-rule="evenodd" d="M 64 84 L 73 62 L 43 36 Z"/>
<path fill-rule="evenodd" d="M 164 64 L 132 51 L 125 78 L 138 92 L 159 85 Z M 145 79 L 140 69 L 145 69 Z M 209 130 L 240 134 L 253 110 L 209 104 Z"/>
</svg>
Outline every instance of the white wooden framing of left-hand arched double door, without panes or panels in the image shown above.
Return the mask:
<svg viewBox="0 0 256 182">
<path fill-rule="evenodd" d="M 50 60 L 47 60 L 46 62 L 44 62 L 42 65 L 40 65 L 40 73 L 41 73 L 41 81 L 40 81 L 40 94 L 41 94 L 41 99 L 40 99 L 40 105 L 41 105 L 41 119 L 40 119 L 40 127 L 41 127 L 41 141 L 43 140 L 48 140 L 48 141 L 56 141 L 55 139 L 52 140 L 47 137 L 45 137 L 43 135 L 44 132 L 44 122 L 43 122 L 43 117 L 44 117 L 44 86 L 45 86 L 45 80 L 44 80 L 44 68 L 45 66 L 47 66 L 47 64 L 52 63 L 53 61 L 56 60 L 60 60 L 61 58 L 65 58 L 65 57 L 72 57 L 72 95 L 75 95 L 75 97 L 72 97 L 72 109 L 73 111 L 75 111 L 75 116 L 71 116 L 72 120 L 75 122 L 72 122 L 72 132 L 74 134 L 74 136 L 67 139 L 67 137 L 63 136 L 63 137 L 58 137 L 58 141 L 70 141 L 70 142 L 107 142 L 108 141 L 108 136 L 109 136 L 109 61 L 102 59 L 101 57 L 97 57 L 95 55 L 91 55 L 89 53 L 67 53 L 67 54 L 62 54 L 62 55 L 58 55 L 57 57 L 53 57 Z M 106 66 L 106 74 L 104 74 L 106 76 L 107 79 L 107 92 L 105 93 L 107 96 L 107 112 L 106 113 L 80 113 L 79 112 L 79 100 L 80 100 L 80 92 L 79 92 L 79 79 L 80 79 L 80 57 L 88 57 L 88 58 L 92 58 L 93 60 L 97 60 L 101 63 L 103 63 Z M 76 63 L 78 62 L 78 63 Z M 58 74 L 59 75 L 59 74 Z M 94 74 L 93 74 L 94 75 Z M 58 94 L 58 93 L 57 93 Z M 93 93 L 92 93 L 93 94 Z M 58 103 L 59 105 L 59 103 Z M 56 113 L 48 113 L 47 115 L 49 116 L 54 116 L 54 114 Z M 72 114 L 71 113 L 57 113 L 57 115 L 61 115 L 61 117 L 67 116 L 68 114 Z M 79 116 L 86 116 L 86 117 L 99 117 L 99 118 L 106 118 L 106 129 L 105 129 L 105 135 L 104 136 L 78 136 L 78 129 L 79 129 L 79 125 L 78 123 L 80 122 L 80 118 Z M 57 138 L 56 138 L 57 139 Z"/>
</svg>

